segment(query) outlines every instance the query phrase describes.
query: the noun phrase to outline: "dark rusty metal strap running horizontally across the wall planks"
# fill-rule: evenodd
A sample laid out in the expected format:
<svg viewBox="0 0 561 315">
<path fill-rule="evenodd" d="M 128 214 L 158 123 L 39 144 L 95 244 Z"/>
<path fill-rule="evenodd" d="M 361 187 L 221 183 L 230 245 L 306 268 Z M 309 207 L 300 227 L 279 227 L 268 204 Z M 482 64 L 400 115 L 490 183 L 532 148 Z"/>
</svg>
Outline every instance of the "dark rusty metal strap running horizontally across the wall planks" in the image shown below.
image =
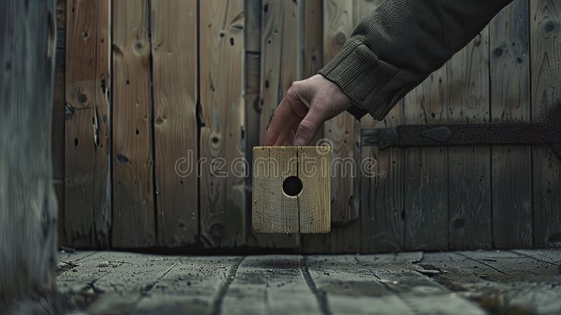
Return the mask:
<svg viewBox="0 0 561 315">
<path fill-rule="evenodd" d="M 561 126 L 550 123 L 477 123 L 405 125 L 368 128 L 361 133 L 367 147 L 428 147 L 455 145 L 550 145 L 561 159 Z"/>
</svg>

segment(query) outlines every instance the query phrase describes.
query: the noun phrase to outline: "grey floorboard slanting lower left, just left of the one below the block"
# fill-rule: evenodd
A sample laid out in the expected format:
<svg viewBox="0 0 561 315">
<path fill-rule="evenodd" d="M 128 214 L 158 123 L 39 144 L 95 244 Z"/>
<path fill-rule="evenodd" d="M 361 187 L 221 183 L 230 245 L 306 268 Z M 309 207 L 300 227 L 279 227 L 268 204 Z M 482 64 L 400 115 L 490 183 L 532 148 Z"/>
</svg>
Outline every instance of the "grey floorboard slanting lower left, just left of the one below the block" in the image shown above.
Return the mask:
<svg viewBox="0 0 561 315">
<path fill-rule="evenodd" d="M 218 314 L 241 259 L 180 257 L 137 304 L 136 314 Z"/>
</svg>

